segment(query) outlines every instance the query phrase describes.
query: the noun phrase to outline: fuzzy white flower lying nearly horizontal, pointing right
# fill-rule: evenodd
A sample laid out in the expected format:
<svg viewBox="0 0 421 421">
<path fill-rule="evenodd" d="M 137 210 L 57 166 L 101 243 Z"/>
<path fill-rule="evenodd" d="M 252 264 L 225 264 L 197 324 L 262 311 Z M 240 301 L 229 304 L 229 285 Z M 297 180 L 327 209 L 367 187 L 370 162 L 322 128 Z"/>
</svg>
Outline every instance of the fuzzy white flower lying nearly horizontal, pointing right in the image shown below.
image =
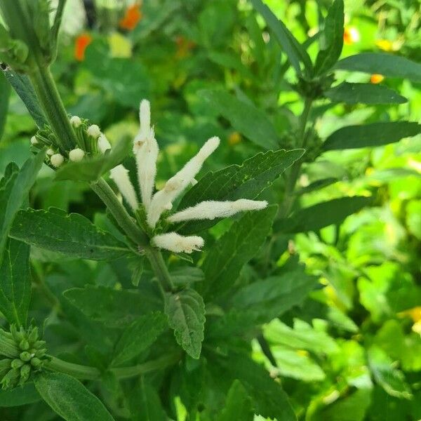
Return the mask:
<svg viewBox="0 0 421 421">
<path fill-rule="evenodd" d="M 239 199 L 236 201 L 203 201 L 196 206 L 180 210 L 169 218 L 168 222 L 227 218 L 243 210 L 261 210 L 266 208 L 267 201 Z"/>
</svg>

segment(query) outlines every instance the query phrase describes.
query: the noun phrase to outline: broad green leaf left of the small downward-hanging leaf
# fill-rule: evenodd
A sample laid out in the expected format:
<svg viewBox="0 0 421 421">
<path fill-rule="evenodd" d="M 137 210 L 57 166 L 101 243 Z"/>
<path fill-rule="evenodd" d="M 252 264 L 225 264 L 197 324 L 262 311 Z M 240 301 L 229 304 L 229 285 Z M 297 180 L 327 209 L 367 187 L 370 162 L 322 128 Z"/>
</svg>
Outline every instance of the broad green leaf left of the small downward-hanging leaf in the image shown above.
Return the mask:
<svg viewBox="0 0 421 421">
<path fill-rule="evenodd" d="M 126 327 L 139 316 L 162 308 L 159 295 L 145 289 L 140 294 L 137 290 L 87 286 L 71 288 L 63 295 L 89 319 L 114 328 Z"/>
</svg>

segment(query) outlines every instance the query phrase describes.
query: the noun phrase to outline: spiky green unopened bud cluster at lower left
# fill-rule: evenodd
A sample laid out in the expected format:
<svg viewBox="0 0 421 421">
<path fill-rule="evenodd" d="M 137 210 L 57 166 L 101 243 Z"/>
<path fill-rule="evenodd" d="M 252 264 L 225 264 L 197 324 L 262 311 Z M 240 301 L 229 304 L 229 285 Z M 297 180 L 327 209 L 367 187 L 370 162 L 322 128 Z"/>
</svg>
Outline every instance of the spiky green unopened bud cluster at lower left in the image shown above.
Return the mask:
<svg viewBox="0 0 421 421">
<path fill-rule="evenodd" d="M 11 326 L 11 331 L 0 329 L 0 378 L 2 389 L 12 389 L 24 385 L 32 373 L 42 370 L 46 363 L 46 342 L 39 340 L 38 328 L 18 330 Z"/>
</svg>

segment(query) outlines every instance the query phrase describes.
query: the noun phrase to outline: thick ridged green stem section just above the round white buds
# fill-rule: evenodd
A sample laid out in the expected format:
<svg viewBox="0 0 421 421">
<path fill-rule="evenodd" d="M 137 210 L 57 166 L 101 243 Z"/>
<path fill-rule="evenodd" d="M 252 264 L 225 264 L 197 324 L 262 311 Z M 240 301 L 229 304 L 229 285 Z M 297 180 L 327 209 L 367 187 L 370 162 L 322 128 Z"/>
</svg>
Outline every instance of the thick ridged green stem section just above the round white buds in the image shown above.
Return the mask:
<svg viewBox="0 0 421 421">
<path fill-rule="evenodd" d="M 36 96 L 44 109 L 51 130 L 62 149 L 68 152 L 77 145 L 76 135 L 62 103 L 53 76 L 48 67 L 36 67 L 29 74 Z"/>
</svg>

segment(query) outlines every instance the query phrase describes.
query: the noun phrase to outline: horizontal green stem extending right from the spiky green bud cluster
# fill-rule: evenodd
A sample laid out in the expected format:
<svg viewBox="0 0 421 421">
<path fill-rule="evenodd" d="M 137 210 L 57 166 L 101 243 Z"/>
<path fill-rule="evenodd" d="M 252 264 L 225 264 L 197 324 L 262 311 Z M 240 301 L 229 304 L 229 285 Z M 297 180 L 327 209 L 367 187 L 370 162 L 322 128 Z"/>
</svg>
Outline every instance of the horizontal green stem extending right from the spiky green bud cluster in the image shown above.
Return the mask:
<svg viewBox="0 0 421 421">
<path fill-rule="evenodd" d="M 50 361 L 46 363 L 46 368 L 60 373 L 66 373 L 76 377 L 80 380 L 98 380 L 101 376 L 101 371 L 98 368 L 91 366 L 81 366 L 80 364 L 69 363 L 55 356 L 50 356 Z M 137 375 L 149 373 L 150 371 L 160 370 L 168 366 L 172 366 L 180 359 L 180 354 L 168 354 L 161 356 L 152 361 L 138 364 L 136 366 L 110 368 L 109 371 L 113 373 L 118 379 L 126 379 L 135 377 Z"/>
</svg>

